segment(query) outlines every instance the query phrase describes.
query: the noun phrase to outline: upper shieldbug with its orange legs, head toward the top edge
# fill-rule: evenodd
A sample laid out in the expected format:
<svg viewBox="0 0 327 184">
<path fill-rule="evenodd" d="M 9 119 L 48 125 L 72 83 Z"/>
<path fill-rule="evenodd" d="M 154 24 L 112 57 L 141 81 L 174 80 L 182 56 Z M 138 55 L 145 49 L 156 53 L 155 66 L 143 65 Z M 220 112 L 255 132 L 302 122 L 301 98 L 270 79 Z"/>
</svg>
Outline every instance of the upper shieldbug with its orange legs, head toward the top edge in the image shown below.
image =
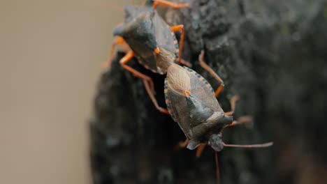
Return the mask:
<svg viewBox="0 0 327 184">
<path fill-rule="evenodd" d="M 117 36 L 110 53 L 114 53 L 115 45 L 126 43 L 131 48 L 129 52 L 119 61 L 122 67 L 133 73 L 136 77 L 143 79 L 147 93 L 149 93 L 154 106 L 165 114 L 166 109 L 159 107 L 154 98 L 154 84 L 152 79 L 141 72 L 126 65 L 133 56 L 136 56 L 140 64 L 145 68 L 161 75 L 166 73 L 168 66 L 174 61 L 184 65 L 189 63 L 181 59 L 184 41 L 184 26 L 169 26 L 157 13 L 159 5 L 171 6 L 173 8 L 187 7 L 186 3 L 177 4 L 164 0 L 147 0 L 145 6 L 125 6 L 125 18 L 123 24 L 117 26 L 112 32 Z M 180 45 L 175 37 L 175 31 L 182 31 Z M 168 51 L 168 52 L 163 52 Z M 166 55 L 168 53 L 168 55 Z M 110 61 L 108 62 L 110 66 Z"/>
</svg>

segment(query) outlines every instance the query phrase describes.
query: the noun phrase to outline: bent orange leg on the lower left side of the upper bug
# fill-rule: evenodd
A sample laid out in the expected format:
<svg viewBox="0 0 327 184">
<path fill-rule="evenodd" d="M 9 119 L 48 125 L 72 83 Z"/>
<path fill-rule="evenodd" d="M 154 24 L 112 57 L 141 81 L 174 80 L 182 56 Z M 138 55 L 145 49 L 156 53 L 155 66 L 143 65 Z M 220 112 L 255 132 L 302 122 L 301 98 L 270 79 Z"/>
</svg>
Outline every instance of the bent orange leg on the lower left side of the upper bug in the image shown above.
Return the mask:
<svg viewBox="0 0 327 184">
<path fill-rule="evenodd" d="M 128 70 L 129 72 L 131 72 L 136 77 L 140 77 L 141 79 L 146 80 L 147 82 L 149 82 L 150 83 L 150 89 L 152 91 L 154 91 L 154 84 L 153 84 L 152 79 L 149 76 L 144 75 L 143 73 L 138 72 L 137 70 L 135 70 L 135 69 L 131 68 L 130 66 L 126 65 L 127 62 L 131 61 L 133 56 L 134 56 L 134 52 L 129 51 L 129 52 L 127 52 L 127 54 L 122 59 L 120 59 L 119 63 L 122 65 L 122 68 L 124 68 L 125 70 Z"/>
</svg>

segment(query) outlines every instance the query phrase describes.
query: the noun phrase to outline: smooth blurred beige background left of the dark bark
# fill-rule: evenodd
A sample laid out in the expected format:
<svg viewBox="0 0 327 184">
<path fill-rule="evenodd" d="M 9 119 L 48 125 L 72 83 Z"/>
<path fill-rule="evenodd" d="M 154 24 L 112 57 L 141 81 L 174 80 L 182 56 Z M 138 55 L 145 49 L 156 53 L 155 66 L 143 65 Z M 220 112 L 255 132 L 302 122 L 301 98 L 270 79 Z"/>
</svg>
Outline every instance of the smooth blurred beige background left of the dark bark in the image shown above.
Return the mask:
<svg viewBox="0 0 327 184">
<path fill-rule="evenodd" d="M 87 121 L 126 3 L 0 1 L 0 183 L 91 183 Z"/>
</svg>

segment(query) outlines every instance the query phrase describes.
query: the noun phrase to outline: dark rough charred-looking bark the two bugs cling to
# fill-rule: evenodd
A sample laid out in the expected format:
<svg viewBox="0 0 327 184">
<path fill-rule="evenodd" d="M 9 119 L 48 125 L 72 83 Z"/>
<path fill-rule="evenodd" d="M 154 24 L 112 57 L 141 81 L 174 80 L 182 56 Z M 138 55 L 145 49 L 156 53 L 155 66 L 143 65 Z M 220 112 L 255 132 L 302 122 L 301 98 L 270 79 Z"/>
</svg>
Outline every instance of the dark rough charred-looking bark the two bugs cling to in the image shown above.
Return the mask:
<svg viewBox="0 0 327 184">
<path fill-rule="evenodd" d="M 169 24 L 184 24 L 183 57 L 215 88 L 198 66 L 205 61 L 224 79 L 219 96 L 225 111 L 238 93 L 235 118 L 254 116 L 254 127 L 228 128 L 224 141 L 273 140 L 273 148 L 224 148 L 221 183 L 324 183 L 327 179 L 327 3 L 326 1 L 199 0 L 166 11 Z M 178 125 L 154 109 L 140 79 L 118 63 L 104 72 L 90 121 L 95 184 L 215 183 L 215 158 L 174 146 L 184 139 Z M 164 106 L 164 76 L 136 62 L 154 79 Z"/>
</svg>

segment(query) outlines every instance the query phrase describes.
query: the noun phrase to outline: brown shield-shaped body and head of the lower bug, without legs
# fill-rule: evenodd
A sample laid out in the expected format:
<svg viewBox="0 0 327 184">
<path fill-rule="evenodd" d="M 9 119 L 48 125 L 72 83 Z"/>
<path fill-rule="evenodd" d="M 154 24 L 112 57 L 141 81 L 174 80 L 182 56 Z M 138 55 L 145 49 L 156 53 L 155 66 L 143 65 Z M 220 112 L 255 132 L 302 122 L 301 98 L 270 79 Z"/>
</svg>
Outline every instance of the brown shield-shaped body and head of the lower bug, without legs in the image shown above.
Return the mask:
<svg viewBox="0 0 327 184">
<path fill-rule="evenodd" d="M 165 81 L 166 104 L 170 115 L 189 139 L 187 148 L 208 143 L 221 151 L 221 130 L 233 122 L 226 116 L 208 82 L 197 72 L 173 64 Z"/>
</svg>

